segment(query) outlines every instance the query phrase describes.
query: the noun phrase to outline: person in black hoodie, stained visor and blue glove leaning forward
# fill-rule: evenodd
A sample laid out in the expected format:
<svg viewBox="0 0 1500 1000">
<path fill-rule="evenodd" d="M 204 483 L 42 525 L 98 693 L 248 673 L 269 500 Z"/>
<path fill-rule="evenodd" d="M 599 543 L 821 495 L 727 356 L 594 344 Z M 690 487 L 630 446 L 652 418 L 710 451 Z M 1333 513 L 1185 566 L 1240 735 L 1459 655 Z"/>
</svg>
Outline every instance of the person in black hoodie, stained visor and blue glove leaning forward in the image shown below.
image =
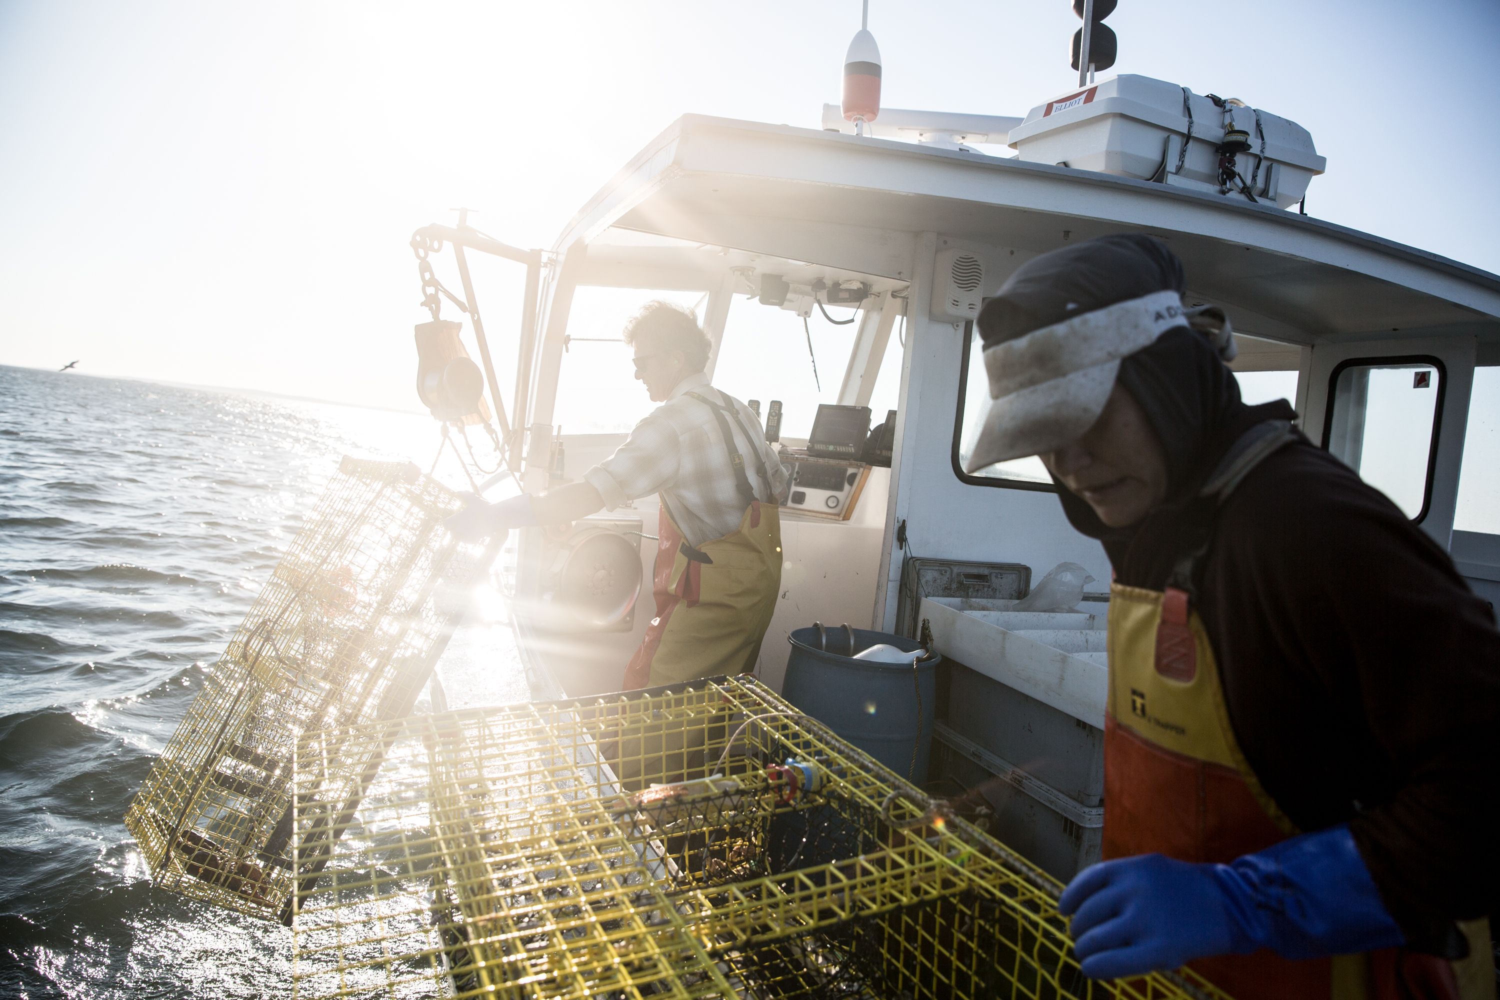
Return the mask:
<svg viewBox="0 0 1500 1000">
<path fill-rule="evenodd" d="M 1084 973 L 1232 996 L 1494 997 L 1500 633 L 1448 553 L 1240 402 L 1228 319 L 1122 234 L 986 303 L 970 471 L 1040 454 L 1114 570 Z"/>
</svg>

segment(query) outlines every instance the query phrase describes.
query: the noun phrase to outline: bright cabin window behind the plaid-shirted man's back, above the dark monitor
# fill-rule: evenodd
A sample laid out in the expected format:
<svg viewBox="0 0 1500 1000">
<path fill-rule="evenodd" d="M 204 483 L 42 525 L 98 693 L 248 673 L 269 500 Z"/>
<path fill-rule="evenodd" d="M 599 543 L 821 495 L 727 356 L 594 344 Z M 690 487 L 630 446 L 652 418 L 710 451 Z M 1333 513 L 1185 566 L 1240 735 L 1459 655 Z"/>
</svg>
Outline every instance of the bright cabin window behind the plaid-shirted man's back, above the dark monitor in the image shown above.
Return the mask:
<svg viewBox="0 0 1500 1000">
<path fill-rule="evenodd" d="M 848 309 L 830 312 L 836 319 L 860 315 Z M 802 319 L 754 298 L 735 298 L 718 345 L 714 388 L 740 400 L 760 400 L 762 423 L 771 400 L 782 400 L 782 436 L 806 439 L 818 405 L 838 402 L 858 328 L 858 322 L 834 325 L 816 309 L 810 319 Z M 873 417 L 873 423 L 882 420 L 884 412 Z"/>
</svg>

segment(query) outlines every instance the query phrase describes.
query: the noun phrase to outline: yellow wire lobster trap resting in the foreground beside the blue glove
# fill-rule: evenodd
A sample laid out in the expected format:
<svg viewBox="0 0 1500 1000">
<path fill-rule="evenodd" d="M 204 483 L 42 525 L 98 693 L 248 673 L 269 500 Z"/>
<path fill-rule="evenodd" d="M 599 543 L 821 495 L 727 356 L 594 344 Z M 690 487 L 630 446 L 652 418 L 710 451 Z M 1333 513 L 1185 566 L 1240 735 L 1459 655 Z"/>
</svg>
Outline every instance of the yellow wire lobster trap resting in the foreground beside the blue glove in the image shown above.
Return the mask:
<svg viewBox="0 0 1500 1000">
<path fill-rule="evenodd" d="M 694 685 L 309 738 L 294 996 L 1221 996 L 1086 979 L 1059 883 L 758 681 Z"/>
</svg>

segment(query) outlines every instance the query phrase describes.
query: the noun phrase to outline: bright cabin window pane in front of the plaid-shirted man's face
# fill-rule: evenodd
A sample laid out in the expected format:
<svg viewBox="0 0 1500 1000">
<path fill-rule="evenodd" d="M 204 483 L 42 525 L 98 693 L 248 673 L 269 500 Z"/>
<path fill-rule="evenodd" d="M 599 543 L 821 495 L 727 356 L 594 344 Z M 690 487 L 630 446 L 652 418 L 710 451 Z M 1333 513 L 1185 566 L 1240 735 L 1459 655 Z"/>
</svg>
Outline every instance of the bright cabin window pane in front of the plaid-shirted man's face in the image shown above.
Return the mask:
<svg viewBox="0 0 1500 1000">
<path fill-rule="evenodd" d="M 560 433 L 628 433 L 656 409 L 657 403 L 634 378 L 630 348 L 620 334 L 642 306 L 657 298 L 693 309 L 702 319 L 708 292 L 597 285 L 573 289 L 568 343 L 552 408 Z"/>
</svg>

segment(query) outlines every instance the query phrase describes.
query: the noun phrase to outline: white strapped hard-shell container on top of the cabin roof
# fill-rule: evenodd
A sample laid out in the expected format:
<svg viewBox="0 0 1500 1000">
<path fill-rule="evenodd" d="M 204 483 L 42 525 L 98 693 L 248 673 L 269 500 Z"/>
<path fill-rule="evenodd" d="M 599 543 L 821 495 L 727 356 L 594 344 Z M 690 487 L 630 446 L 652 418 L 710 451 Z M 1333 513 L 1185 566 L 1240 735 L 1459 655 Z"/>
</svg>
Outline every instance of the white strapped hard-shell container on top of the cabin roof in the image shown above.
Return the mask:
<svg viewBox="0 0 1500 1000">
<path fill-rule="evenodd" d="M 1220 145 L 1230 129 L 1248 135 L 1250 150 L 1238 153 L 1234 165 L 1258 202 L 1290 208 L 1328 166 L 1296 121 L 1239 102 L 1221 108 L 1178 84 L 1136 75 L 1101 79 L 1032 108 L 1011 129 L 1010 145 L 1032 163 L 1245 198 L 1238 181 L 1227 192 L 1220 184 Z"/>
</svg>

